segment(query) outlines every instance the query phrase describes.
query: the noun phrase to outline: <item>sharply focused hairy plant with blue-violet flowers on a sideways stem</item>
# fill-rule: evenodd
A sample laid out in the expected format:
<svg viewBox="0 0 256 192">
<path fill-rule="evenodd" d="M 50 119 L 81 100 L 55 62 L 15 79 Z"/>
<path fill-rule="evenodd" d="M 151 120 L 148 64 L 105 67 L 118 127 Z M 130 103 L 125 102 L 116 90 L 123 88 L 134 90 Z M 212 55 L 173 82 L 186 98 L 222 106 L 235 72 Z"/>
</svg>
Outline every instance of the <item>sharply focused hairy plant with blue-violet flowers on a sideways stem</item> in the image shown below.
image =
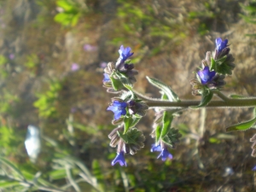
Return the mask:
<svg viewBox="0 0 256 192">
<path fill-rule="evenodd" d="M 201 100 L 182 100 L 171 87 L 158 79 L 149 78 L 148 82 L 160 89 L 160 98 L 150 98 L 133 89 L 136 83 L 137 70 L 131 63 L 133 55 L 130 47 L 120 46 L 119 58 L 114 64 L 109 62 L 104 69 L 103 85 L 108 92 L 115 94 L 107 110 L 113 112 L 113 125 L 117 127 L 108 135 L 110 146 L 117 148 L 117 156 L 112 165 L 119 163 L 126 166 L 125 154 L 136 154 L 144 147 L 143 132 L 136 127 L 137 123 L 146 114 L 148 109 L 155 110 L 155 119 L 152 125 L 151 137 L 154 138 L 151 152 L 158 152 L 161 160 L 172 160 L 169 148 L 175 148 L 179 143 L 181 133 L 172 125 L 172 120 L 188 109 L 197 108 L 255 108 L 256 98 L 247 96 L 225 96 L 224 79 L 232 75 L 235 68 L 234 57 L 230 54 L 228 39 L 217 38 L 216 49 L 208 51 L 206 58 L 195 72 L 195 79 L 190 80 L 192 94 L 201 96 Z M 212 99 L 218 96 L 220 100 Z M 256 110 L 256 108 L 255 108 Z M 246 131 L 256 123 L 256 114 L 253 119 L 230 125 L 226 131 Z M 251 138 L 253 154 L 256 156 L 256 134 Z"/>
</svg>

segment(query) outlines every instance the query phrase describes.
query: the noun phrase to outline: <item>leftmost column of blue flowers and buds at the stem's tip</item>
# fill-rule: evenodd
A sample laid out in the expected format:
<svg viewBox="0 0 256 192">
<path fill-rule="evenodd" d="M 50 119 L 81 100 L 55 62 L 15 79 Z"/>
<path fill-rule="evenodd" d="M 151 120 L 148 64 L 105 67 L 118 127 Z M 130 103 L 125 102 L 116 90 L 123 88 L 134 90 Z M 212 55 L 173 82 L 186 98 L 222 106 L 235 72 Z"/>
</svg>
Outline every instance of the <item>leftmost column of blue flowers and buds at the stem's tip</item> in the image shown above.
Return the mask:
<svg viewBox="0 0 256 192">
<path fill-rule="evenodd" d="M 134 65 L 128 60 L 131 55 L 131 48 L 121 45 L 118 61 L 115 65 L 109 62 L 103 74 L 102 82 L 108 88 L 107 91 L 121 94 L 113 97 L 107 108 L 113 112 L 113 125 L 118 125 L 108 135 L 110 146 L 117 147 L 117 156 L 112 165 L 118 162 L 120 166 L 126 166 L 125 154 L 136 154 L 137 150 L 144 147 L 143 132 L 138 131 L 135 125 L 145 115 L 148 106 L 127 89 L 136 82 L 134 76 L 137 75 Z"/>
</svg>

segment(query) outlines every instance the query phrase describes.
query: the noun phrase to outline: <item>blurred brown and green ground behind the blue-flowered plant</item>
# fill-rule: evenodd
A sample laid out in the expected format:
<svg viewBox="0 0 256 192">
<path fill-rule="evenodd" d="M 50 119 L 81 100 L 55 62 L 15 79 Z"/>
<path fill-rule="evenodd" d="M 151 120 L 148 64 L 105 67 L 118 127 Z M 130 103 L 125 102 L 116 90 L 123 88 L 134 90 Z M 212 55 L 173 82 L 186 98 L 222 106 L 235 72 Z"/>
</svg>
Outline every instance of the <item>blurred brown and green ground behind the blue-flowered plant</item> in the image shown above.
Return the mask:
<svg viewBox="0 0 256 192">
<path fill-rule="evenodd" d="M 145 147 L 111 166 L 113 95 L 103 68 L 130 46 L 135 89 L 160 96 L 145 76 L 181 99 L 215 38 L 228 38 L 236 59 L 224 94 L 256 95 L 256 1 L 3 0 L 0 2 L 0 191 L 256 191 L 255 131 L 225 132 L 253 109 L 187 111 L 173 160 L 150 153 L 154 111 L 137 125 Z M 28 125 L 39 128 L 41 153 L 26 154 Z M 27 137 L 28 138 L 28 137 Z M 37 156 L 37 154 L 35 154 Z"/>
</svg>

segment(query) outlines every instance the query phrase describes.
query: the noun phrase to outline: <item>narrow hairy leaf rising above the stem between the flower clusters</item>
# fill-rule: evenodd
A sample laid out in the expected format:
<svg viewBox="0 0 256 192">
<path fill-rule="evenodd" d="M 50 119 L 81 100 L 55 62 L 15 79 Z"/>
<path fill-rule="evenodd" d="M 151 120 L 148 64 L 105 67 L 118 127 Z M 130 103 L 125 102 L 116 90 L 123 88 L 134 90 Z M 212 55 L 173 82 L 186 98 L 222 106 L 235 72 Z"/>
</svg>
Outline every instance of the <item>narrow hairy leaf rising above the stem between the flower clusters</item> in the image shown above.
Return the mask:
<svg viewBox="0 0 256 192">
<path fill-rule="evenodd" d="M 160 80 L 157 80 L 157 79 L 153 79 L 153 78 L 149 78 L 149 77 L 146 77 L 146 78 L 148 79 L 148 82 L 150 84 L 153 84 L 155 87 L 162 90 L 168 97 L 169 101 L 180 102 L 176 93 L 168 85 L 162 83 Z"/>
</svg>

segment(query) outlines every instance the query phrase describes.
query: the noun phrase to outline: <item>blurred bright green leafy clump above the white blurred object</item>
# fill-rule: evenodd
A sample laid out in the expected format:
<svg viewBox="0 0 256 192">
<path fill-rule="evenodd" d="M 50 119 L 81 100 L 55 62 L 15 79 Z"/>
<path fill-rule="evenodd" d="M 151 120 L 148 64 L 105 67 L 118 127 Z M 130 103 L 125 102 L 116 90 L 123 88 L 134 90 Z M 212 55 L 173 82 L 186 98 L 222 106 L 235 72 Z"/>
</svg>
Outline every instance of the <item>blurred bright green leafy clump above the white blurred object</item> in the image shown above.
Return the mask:
<svg viewBox="0 0 256 192">
<path fill-rule="evenodd" d="M 45 93 L 37 94 L 38 100 L 33 103 L 35 108 L 38 108 L 38 113 L 42 117 L 49 117 L 56 112 L 56 104 L 58 102 L 61 83 L 52 81 L 49 84 L 49 90 Z"/>
</svg>

